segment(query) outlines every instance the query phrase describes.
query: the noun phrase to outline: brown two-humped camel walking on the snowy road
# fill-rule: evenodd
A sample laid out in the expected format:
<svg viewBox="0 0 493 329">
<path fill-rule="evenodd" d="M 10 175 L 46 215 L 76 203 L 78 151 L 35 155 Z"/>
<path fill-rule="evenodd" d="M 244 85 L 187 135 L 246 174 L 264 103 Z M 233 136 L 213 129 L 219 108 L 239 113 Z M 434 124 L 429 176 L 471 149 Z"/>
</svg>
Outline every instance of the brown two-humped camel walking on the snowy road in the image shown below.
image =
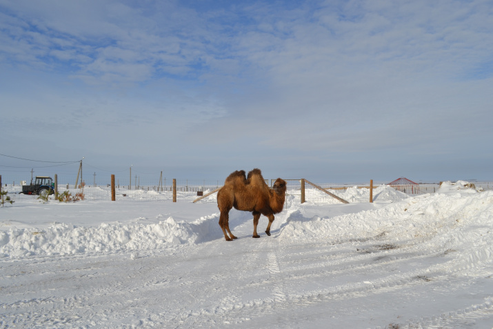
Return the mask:
<svg viewBox="0 0 493 329">
<path fill-rule="evenodd" d="M 272 188 L 269 188 L 262 177 L 260 169 L 248 172 L 239 170 L 232 172 L 224 181 L 224 186 L 217 192 L 217 206 L 221 211 L 219 226 L 221 226 L 226 241 L 237 239 L 230 231 L 229 212 L 231 208 L 237 210 L 251 211 L 253 215 L 253 237 L 256 234 L 256 226 L 259 224 L 260 215 L 268 217 L 269 224 L 265 233 L 270 235 L 270 226 L 274 221 L 274 214 L 283 210 L 286 193 L 286 182 L 276 179 Z M 228 234 L 230 236 L 228 237 Z"/>
</svg>

